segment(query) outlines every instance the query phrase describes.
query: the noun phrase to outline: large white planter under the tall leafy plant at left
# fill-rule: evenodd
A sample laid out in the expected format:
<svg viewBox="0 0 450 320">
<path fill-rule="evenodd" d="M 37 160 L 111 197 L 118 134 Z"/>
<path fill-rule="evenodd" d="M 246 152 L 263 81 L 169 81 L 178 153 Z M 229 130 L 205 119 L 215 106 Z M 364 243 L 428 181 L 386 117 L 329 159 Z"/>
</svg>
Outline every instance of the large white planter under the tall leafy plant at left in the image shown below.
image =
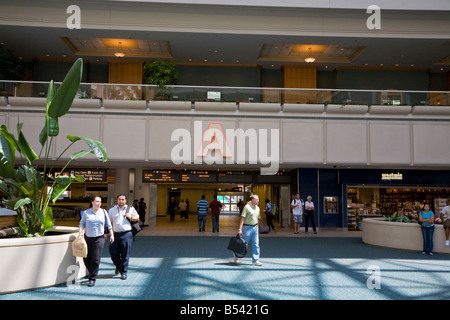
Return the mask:
<svg viewBox="0 0 450 320">
<path fill-rule="evenodd" d="M 78 228 L 54 227 L 53 231 L 61 234 L 0 239 L 0 294 L 54 286 L 87 275 L 83 258 L 72 255 Z"/>
</svg>

